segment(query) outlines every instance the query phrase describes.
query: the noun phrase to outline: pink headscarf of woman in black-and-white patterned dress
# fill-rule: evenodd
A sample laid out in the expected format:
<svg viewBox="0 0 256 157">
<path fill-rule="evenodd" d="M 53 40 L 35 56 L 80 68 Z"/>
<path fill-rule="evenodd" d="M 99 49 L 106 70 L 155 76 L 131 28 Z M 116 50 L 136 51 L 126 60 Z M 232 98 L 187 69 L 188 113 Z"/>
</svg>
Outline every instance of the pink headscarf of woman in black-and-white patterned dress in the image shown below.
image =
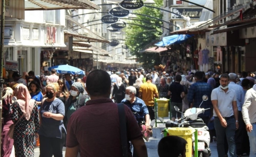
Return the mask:
<svg viewBox="0 0 256 157">
<path fill-rule="evenodd" d="M 31 99 L 28 88 L 23 84 L 17 85 L 15 88 L 15 93 L 17 95 L 16 101 L 18 102 L 24 117 L 29 120 L 35 100 Z"/>
</svg>

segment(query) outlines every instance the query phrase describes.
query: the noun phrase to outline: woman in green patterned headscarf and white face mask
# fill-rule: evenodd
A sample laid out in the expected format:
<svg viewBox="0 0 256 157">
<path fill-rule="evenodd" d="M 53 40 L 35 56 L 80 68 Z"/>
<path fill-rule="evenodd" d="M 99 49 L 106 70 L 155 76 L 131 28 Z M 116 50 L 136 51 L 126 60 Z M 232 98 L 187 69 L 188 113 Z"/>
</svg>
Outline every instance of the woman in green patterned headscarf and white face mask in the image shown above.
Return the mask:
<svg viewBox="0 0 256 157">
<path fill-rule="evenodd" d="M 86 101 L 90 99 L 88 95 L 84 95 L 84 87 L 81 82 L 74 82 L 70 88 L 70 96 L 65 103 L 64 124 L 67 126 L 68 120 L 72 113 L 80 107 L 84 106 Z"/>
</svg>

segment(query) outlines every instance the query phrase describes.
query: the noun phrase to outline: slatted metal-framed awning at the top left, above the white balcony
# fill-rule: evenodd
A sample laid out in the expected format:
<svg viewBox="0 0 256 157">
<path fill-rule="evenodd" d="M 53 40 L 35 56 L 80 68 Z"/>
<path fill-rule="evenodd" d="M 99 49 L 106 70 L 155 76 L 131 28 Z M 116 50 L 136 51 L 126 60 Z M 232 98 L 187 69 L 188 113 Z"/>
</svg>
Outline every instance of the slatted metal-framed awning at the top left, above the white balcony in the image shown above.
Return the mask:
<svg viewBox="0 0 256 157">
<path fill-rule="evenodd" d="M 25 10 L 97 9 L 100 7 L 88 0 L 25 0 Z"/>
</svg>

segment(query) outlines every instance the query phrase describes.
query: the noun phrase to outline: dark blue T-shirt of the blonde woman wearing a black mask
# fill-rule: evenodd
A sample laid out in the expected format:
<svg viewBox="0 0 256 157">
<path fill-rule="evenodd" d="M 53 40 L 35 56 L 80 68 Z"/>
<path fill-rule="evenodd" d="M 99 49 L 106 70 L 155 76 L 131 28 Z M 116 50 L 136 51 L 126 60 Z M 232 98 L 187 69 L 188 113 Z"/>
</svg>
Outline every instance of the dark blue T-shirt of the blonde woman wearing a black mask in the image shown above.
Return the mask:
<svg viewBox="0 0 256 157">
<path fill-rule="evenodd" d="M 62 114 L 65 116 L 64 103 L 60 99 L 56 98 L 52 102 L 45 100 L 41 106 L 41 124 L 38 132 L 39 135 L 61 138 L 62 128 L 65 130 L 63 120 L 46 118 L 42 116 L 42 113 L 43 111 L 50 111 L 52 113 Z"/>
</svg>

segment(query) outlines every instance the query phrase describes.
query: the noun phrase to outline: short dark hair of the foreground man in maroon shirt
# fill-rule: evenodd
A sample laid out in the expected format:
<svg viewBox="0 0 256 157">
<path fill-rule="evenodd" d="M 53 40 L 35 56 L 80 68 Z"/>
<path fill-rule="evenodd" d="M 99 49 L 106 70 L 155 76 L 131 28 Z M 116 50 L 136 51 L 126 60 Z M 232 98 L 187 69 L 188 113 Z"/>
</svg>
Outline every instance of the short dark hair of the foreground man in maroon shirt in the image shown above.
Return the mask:
<svg viewBox="0 0 256 157">
<path fill-rule="evenodd" d="M 103 96 L 110 91 L 109 74 L 101 69 L 91 71 L 86 78 L 86 89 L 91 96 Z"/>
</svg>

